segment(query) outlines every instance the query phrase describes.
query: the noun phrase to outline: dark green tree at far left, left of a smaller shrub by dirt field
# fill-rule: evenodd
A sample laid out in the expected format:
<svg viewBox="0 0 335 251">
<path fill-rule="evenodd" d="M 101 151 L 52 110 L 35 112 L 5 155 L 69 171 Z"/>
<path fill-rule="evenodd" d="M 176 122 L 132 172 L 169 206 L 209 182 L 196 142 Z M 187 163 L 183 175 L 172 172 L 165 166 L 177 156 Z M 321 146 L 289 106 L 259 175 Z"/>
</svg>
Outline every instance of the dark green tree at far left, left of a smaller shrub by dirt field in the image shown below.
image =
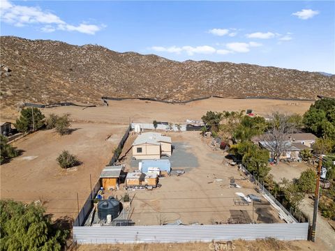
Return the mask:
<svg viewBox="0 0 335 251">
<path fill-rule="evenodd" d="M 34 123 L 33 123 L 34 114 Z M 28 132 L 29 130 L 38 130 L 44 126 L 45 116 L 36 107 L 21 110 L 20 118 L 16 120 L 15 128 L 19 132 Z M 34 126 L 34 128 L 33 128 Z"/>
</svg>

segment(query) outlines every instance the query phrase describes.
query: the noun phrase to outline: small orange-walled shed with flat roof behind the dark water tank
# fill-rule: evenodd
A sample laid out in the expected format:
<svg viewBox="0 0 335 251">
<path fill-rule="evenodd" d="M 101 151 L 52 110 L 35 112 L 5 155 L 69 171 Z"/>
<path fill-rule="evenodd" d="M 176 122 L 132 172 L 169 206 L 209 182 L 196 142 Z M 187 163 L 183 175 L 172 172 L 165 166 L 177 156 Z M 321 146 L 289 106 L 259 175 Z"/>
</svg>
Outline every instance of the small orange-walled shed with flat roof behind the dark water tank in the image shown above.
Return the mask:
<svg viewBox="0 0 335 251">
<path fill-rule="evenodd" d="M 119 189 L 119 183 L 121 179 L 125 176 L 124 168 L 124 165 L 105 167 L 100 174 L 103 189 Z"/>
</svg>

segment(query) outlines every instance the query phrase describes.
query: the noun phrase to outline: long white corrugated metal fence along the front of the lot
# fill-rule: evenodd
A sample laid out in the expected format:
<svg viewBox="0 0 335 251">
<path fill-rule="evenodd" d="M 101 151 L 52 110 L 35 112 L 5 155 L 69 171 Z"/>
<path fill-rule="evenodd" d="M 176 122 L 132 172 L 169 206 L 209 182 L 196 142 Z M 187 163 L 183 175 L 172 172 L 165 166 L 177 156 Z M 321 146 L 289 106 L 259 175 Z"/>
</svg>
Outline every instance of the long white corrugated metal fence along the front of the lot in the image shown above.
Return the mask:
<svg viewBox="0 0 335 251">
<path fill-rule="evenodd" d="M 194 225 L 194 226 L 132 226 L 73 227 L 74 241 L 81 244 L 101 243 L 186 243 L 276 238 L 307 240 L 308 223 Z"/>
</svg>

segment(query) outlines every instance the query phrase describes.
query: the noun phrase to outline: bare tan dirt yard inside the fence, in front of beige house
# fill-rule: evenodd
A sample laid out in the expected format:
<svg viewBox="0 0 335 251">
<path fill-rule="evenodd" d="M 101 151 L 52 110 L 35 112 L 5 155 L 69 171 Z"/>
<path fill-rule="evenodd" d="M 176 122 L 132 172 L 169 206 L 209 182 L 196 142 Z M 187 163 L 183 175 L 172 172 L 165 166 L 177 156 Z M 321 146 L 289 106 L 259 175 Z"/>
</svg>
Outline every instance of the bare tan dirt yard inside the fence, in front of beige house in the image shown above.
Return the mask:
<svg viewBox="0 0 335 251">
<path fill-rule="evenodd" d="M 128 192 L 134 197 L 131 219 L 136 225 L 159 225 L 175 220 L 181 220 L 184 224 L 213 224 L 226 222 L 228 218 L 239 220 L 240 223 L 249 223 L 253 218 L 263 223 L 282 222 L 264 198 L 261 203 L 254 203 L 254 214 L 252 204 L 234 205 L 233 198 L 239 198 L 235 192 L 257 194 L 254 185 L 244 180 L 237 167 L 228 165 L 222 151 L 212 151 L 199 132 L 169 132 L 167 135 L 172 137 L 172 144 L 180 146 L 183 143 L 198 167 L 174 166 L 172 163 L 172 169 L 187 167 L 186 174 L 160 178 L 161 188 L 152 191 Z M 177 151 L 184 149 L 176 148 L 172 154 L 177 155 Z M 138 169 L 131 167 L 130 162 L 129 154 L 125 160 L 129 172 Z M 231 176 L 241 188 L 230 188 Z M 124 195 L 124 190 L 114 195 L 120 197 Z"/>
</svg>

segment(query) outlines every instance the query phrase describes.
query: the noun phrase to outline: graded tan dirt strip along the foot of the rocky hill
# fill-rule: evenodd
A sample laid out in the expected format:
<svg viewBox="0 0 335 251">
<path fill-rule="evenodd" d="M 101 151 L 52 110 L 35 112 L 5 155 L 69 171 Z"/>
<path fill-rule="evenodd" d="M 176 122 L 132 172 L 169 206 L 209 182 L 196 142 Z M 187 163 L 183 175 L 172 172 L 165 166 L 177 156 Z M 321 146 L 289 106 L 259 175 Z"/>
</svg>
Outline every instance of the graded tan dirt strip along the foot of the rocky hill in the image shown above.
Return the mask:
<svg viewBox="0 0 335 251">
<path fill-rule="evenodd" d="M 144 100 L 122 100 L 109 101 L 109 106 L 91 107 L 54 107 L 43 109 L 44 114 L 70 113 L 77 121 L 92 121 L 105 123 L 129 123 L 134 122 L 151 123 L 157 121 L 169 121 L 172 123 L 183 123 L 186 119 L 201 119 L 207 111 L 216 112 L 240 111 L 241 109 L 253 109 L 255 114 L 267 116 L 272 112 L 304 114 L 310 107 L 310 101 L 288 101 L 288 100 L 266 100 L 266 99 L 223 99 L 209 98 L 190 102 L 186 105 L 172 105 L 162 102 L 149 102 Z M 2 119 L 13 121 L 17 114 L 4 112 Z"/>
</svg>

